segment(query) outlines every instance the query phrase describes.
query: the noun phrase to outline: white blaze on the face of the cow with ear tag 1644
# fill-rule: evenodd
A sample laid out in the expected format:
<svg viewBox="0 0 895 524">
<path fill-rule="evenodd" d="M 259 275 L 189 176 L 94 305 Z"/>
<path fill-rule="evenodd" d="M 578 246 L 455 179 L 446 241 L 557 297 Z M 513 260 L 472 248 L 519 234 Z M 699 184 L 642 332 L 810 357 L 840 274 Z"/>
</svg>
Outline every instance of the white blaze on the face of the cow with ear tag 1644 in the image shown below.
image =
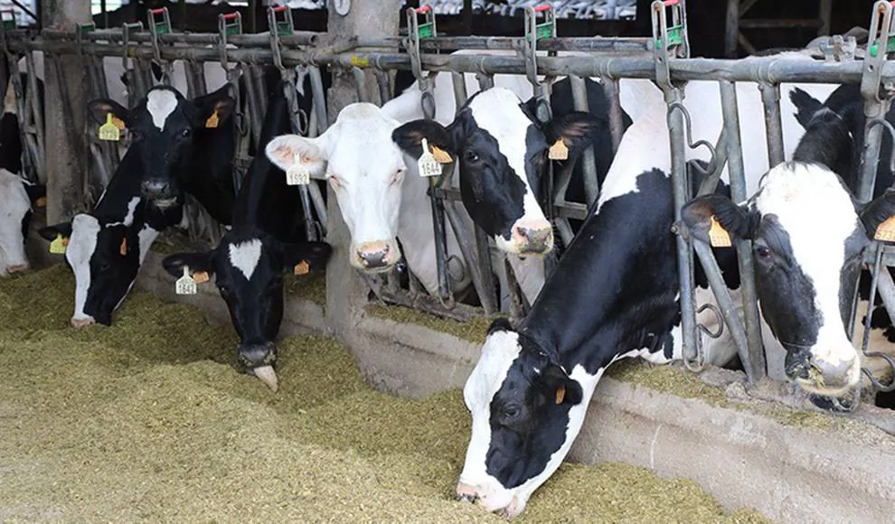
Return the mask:
<svg viewBox="0 0 895 524">
<path fill-rule="evenodd" d="M 495 236 L 497 248 L 507 253 L 545 254 L 553 248 L 553 229 L 534 198 L 532 186 L 525 171 L 528 154 L 528 131 L 532 121 L 519 105 L 522 101 L 513 91 L 504 88 L 487 89 L 469 101 L 469 109 L 476 125 L 493 136 L 500 154 L 525 188 L 523 215 L 510 231 L 509 239 Z"/>
</svg>

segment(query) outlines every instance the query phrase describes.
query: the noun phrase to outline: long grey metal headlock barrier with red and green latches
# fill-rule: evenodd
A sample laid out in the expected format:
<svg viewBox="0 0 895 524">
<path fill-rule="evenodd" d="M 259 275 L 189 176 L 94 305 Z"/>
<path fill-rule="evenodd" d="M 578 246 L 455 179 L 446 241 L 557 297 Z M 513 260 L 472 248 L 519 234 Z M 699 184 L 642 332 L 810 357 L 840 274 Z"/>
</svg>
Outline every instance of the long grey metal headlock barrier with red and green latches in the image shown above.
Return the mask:
<svg viewBox="0 0 895 524">
<path fill-rule="evenodd" d="M 775 56 L 751 57 L 748 60 L 691 58 L 685 13 L 683 0 L 655 0 L 651 5 L 653 34 L 648 38 L 557 37 L 549 5 L 526 8 L 525 34 L 522 37 L 441 36 L 437 31 L 435 16 L 426 6 L 419 9 L 410 8 L 406 12 L 409 32 L 404 37 L 353 37 L 331 46 L 319 43 L 325 40 L 321 33 L 295 31 L 291 13 L 277 7 L 269 8 L 272 28 L 269 34 L 242 33 L 241 23 L 238 29 L 234 25 L 239 20 L 234 15 L 221 15 L 218 34 L 174 33 L 170 30 L 165 31 L 164 22 L 162 25 L 155 25 L 155 14 L 150 12 L 148 34 L 135 31 L 133 26 L 125 25 L 121 29 L 78 33 L 44 30 L 41 34 L 34 34 L 22 30 L 4 30 L 0 36 L 5 57 L 13 63 L 20 56 L 28 57 L 32 51 L 43 51 L 54 55 L 78 52 L 97 61 L 107 56 L 122 57 L 123 61 L 130 59 L 135 64 L 137 71 L 129 74 L 142 78 L 147 77 L 136 65 L 147 64 L 149 61 L 155 61 L 163 66 L 166 64 L 165 67 L 170 66 L 172 61 L 199 65 L 204 62 L 220 62 L 225 69 L 230 63 L 236 64 L 244 80 L 246 98 L 249 98 L 242 106 L 248 113 L 245 117 L 248 122 L 244 125 L 254 137 L 255 145 L 259 136 L 260 118 L 266 105 L 259 69 L 265 65 L 276 66 L 283 73 L 283 79 L 287 81 L 287 99 L 292 108 L 290 117 L 293 129 L 305 134 L 308 131 L 319 134 L 325 130 L 328 123 L 323 84 L 320 80 L 320 71 L 317 69 L 321 66 L 353 74 L 358 98 L 361 100 L 375 98 L 366 90 L 365 75 L 368 72 L 376 75 L 383 103 L 391 92 L 385 73 L 392 70 L 410 70 L 419 81 L 422 111 L 429 118 L 435 114 L 432 79 L 438 73 L 451 75 L 457 106 L 464 103 L 467 98 L 464 73 L 475 74 L 483 89 L 494 85 L 495 74 L 525 75 L 531 81 L 534 94 L 538 98 L 537 117 L 542 120 L 550 118 L 548 100 L 553 80 L 570 77 L 574 107 L 587 110 L 585 79 L 597 78 L 602 82 L 609 100 L 613 151 L 617 149 L 622 136 L 618 80 L 654 80 L 664 94 L 671 140 L 675 209 L 673 231 L 681 285 L 683 346 L 686 356 L 684 363 L 688 369 L 702 369 L 704 355 L 700 333 L 708 336 L 720 334 L 709 333 L 696 322 L 696 313 L 706 306 L 697 308 L 695 303 L 693 289 L 695 256 L 705 270 L 711 289 L 718 300 L 719 307 L 713 309 L 716 309 L 715 313 L 721 316 L 726 328 L 730 330 L 731 339 L 736 345 L 749 383 L 755 383 L 765 376 L 766 364 L 759 330 L 751 243 L 748 240 L 737 240 L 735 245 L 740 261 L 744 305 L 744 321 L 740 321 L 736 304 L 724 285 L 721 270 L 711 253 L 711 248 L 700 242 L 693 242 L 681 221 L 681 208 L 690 200 L 692 194 L 687 174 L 686 152 L 688 148 L 694 147 L 706 147 L 711 152 L 711 161 L 707 169 L 693 165 L 697 169 L 702 169 L 702 173 L 707 175 L 698 189 L 698 194 L 713 192 L 726 166 L 733 200 L 745 201 L 749 195 L 746 194 L 735 83 L 739 81 L 758 83 L 764 108 L 762 117 L 767 130 L 770 165 L 785 160 L 779 103 L 781 83 L 860 84 L 867 125 L 864 130 L 865 147 L 862 151 L 860 191 L 856 197 L 862 202 L 870 201 L 882 136 L 884 133 L 889 133 L 895 138 L 895 129 L 885 121 L 891 98 L 895 95 L 895 61 L 889 60 L 895 54 L 895 26 L 893 26 L 895 2 L 880 0 L 873 6 L 871 47 L 864 60 L 857 60 L 854 46 L 843 42 L 841 37 L 838 40 L 831 38 L 821 46 L 826 58 L 824 61 L 789 61 Z M 425 17 L 423 22 L 419 21 L 420 16 Z M 72 42 L 77 43 L 74 51 Z M 399 51 L 394 51 L 395 49 Z M 446 54 L 446 51 L 461 49 L 510 50 L 515 53 Z M 538 51 L 547 51 L 547 54 L 538 54 Z M 559 51 L 577 52 L 572 56 L 558 56 Z M 29 64 L 32 64 L 32 61 L 29 61 Z M 287 68 L 297 66 L 310 68 L 312 73 L 314 99 L 312 116 L 299 114 L 295 86 L 288 85 L 292 77 L 287 74 Z M 33 65 L 29 67 L 33 70 Z M 234 88 L 238 87 L 239 73 L 227 70 L 228 80 Z M 170 73 L 170 70 L 167 72 Z M 197 78 L 200 77 L 201 74 Z M 151 77 L 148 78 L 151 82 Z M 718 82 L 724 117 L 720 136 L 692 136 L 690 114 L 683 105 L 683 86 L 688 80 Z M 150 82 L 146 85 L 151 85 Z M 142 90 L 145 92 L 145 89 Z M 196 80 L 191 90 L 194 93 L 203 92 L 201 81 Z M 35 106 L 33 92 L 34 89 L 30 89 L 31 97 L 26 94 L 23 100 L 22 89 L 18 87 L 15 89 L 20 114 L 26 114 L 25 108 L 30 108 L 31 112 L 27 114 L 35 115 L 34 120 L 28 120 L 23 124 L 23 134 L 28 140 L 26 148 L 28 154 L 33 155 L 32 164 L 38 166 L 40 171 L 42 162 L 39 152 L 43 151 L 40 143 L 42 139 L 35 138 L 35 135 L 40 136 L 41 131 L 29 134 L 34 131 L 31 126 L 42 127 L 34 124 L 35 121 L 40 122 L 39 117 L 36 117 L 40 108 Z M 311 122 L 315 120 L 316 126 L 312 126 Z M 586 156 L 584 164 L 587 201 L 567 201 L 566 190 L 571 173 L 569 167 L 549 177 L 551 192 L 547 200 L 542 202 L 545 211 L 556 224 L 561 240 L 566 243 L 572 236 L 568 220 L 583 220 L 589 204 L 598 195 L 597 174 L 593 166 L 592 153 L 589 155 Z M 895 162 L 892 159 L 887 160 L 890 164 Z M 502 253 L 498 254 L 498 257 L 492 257 L 495 247 L 481 229 L 474 226 L 470 230 L 464 220 L 461 220 L 457 206 L 462 204 L 459 190 L 453 181 L 456 178 L 454 176 L 456 163 L 445 165 L 447 168 L 439 171 L 440 174 L 429 178 L 429 200 L 437 235 L 438 293 L 435 296 L 427 294 L 419 280 L 412 275 L 409 284 L 404 287 L 400 285 L 400 276 L 396 272 L 387 276 L 365 276 L 365 280 L 374 295 L 391 304 L 408 305 L 458 320 L 492 315 L 501 309 L 511 317 L 518 318 L 523 315 L 527 304 L 524 304 L 518 283 L 513 279 L 513 271 Z M 293 173 L 297 177 L 302 174 Z M 307 216 L 316 216 L 317 220 L 313 227 L 309 227 L 308 235 L 312 238 L 323 236 L 326 221 L 323 196 L 319 191 L 315 192 L 314 183 L 302 183 L 301 186 L 302 205 Z M 463 257 L 466 259 L 466 264 L 460 266 L 462 271 L 470 272 L 480 306 L 474 307 L 455 300 L 451 278 L 451 263 L 454 260 L 448 257 L 446 248 L 448 226 L 455 233 Z M 494 258 L 498 259 L 495 264 L 504 267 L 493 266 Z M 547 269 L 551 270 L 549 258 L 546 263 Z M 888 267 L 895 266 L 895 250 L 886 242 L 875 241 L 865 255 L 864 263 L 872 272 L 871 304 L 876 295 L 880 295 L 890 316 L 895 318 L 893 314 L 895 283 L 887 270 Z M 495 275 L 500 273 L 499 269 L 507 272 L 508 285 L 511 288 L 511 299 L 503 308 L 495 284 Z M 855 293 L 852 318 L 848 326 L 852 332 L 855 327 L 857 304 L 857 292 Z M 868 330 L 865 329 L 863 344 L 865 355 L 881 356 L 868 352 L 867 333 Z M 888 361 L 895 371 L 895 360 L 889 356 L 881 357 Z M 883 381 L 872 377 L 868 370 L 864 370 L 864 373 L 870 379 L 873 388 L 883 391 L 895 388 L 895 380 Z"/>
</svg>

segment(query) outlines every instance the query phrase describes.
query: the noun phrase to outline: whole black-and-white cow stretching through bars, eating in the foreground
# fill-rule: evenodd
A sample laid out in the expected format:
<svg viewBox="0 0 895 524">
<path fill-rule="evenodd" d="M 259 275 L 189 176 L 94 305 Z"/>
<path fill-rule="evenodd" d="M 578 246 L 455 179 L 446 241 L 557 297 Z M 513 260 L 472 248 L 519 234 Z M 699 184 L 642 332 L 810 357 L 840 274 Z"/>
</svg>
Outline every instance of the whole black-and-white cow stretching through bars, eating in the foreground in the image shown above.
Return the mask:
<svg viewBox="0 0 895 524">
<path fill-rule="evenodd" d="M 784 92 L 792 88 L 782 86 Z M 825 98 L 834 87 L 805 89 Z M 693 81 L 685 92 L 693 136 L 718 136 L 717 85 Z M 738 84 L 738 95 L 744 163 L 754 185 L 768 171 L 761 103 L 755 84 Z M 803 130 L 788 98 L 782 104 L 791 154 Z M 492 325 L 466 381 L 472 435 L 457 495 L 487 510 L 511 518 L 524 510 L 532 492 L 568 454 L 594 388 L 612 362 L 681 355 L 666 108 L 660 101 L 642 115 L 628 128 L 598 202 L 531 312 L 515 329 L 505 321 Z M 706 156 L 688 152 L 691 160 Z M 732 276 L 725 273 L 727 284 L 737 287 L 739 279 Z M 697 300 L 713 296 L 699 286 Z M 707 316 L 700 322 L 713 315 Z M 733 356 L 726 336 L 702 340 L 709 362 Z"/>
</svg>

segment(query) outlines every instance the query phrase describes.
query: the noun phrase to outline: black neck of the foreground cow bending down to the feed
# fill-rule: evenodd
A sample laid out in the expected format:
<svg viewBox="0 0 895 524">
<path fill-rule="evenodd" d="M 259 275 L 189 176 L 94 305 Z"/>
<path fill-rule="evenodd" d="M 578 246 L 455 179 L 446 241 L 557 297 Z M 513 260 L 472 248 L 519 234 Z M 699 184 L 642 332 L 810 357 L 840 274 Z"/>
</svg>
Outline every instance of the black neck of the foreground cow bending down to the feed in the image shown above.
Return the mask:
<svg viewBox="0 0 895 524">
<path fill-rule="evenodd" d="M 636 192 L 590 210 L 518 331 L 567 370 L 590 373 L 655 346 L 676 320 L 671 186 L 653 170 Z"/>
</svg>

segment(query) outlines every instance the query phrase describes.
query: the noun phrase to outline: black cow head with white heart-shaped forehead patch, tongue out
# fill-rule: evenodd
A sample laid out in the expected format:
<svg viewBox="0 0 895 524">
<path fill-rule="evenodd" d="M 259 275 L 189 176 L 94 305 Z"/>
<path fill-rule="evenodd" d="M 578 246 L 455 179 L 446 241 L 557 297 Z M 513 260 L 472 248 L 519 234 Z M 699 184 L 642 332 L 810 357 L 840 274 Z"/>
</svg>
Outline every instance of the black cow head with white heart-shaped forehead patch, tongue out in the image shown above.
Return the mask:
<svg viewBox="0 0 895 524">
<path fill-rule="evenodd" d="M 283 272 L 296 267 L 303 271 L 323 268 L 330 252 L 324 242 L 287 244 L 257 229 L 234 229 L 224 235 L 217 248 L 171 255 L 162 264 L 172 276 L 183 276 L 184 267 L 193 275 L 204 272 L 214 276 L 240 335 L 240 368 L 276 391 L 274 341 L 283 319 Z"/>
</svg>

